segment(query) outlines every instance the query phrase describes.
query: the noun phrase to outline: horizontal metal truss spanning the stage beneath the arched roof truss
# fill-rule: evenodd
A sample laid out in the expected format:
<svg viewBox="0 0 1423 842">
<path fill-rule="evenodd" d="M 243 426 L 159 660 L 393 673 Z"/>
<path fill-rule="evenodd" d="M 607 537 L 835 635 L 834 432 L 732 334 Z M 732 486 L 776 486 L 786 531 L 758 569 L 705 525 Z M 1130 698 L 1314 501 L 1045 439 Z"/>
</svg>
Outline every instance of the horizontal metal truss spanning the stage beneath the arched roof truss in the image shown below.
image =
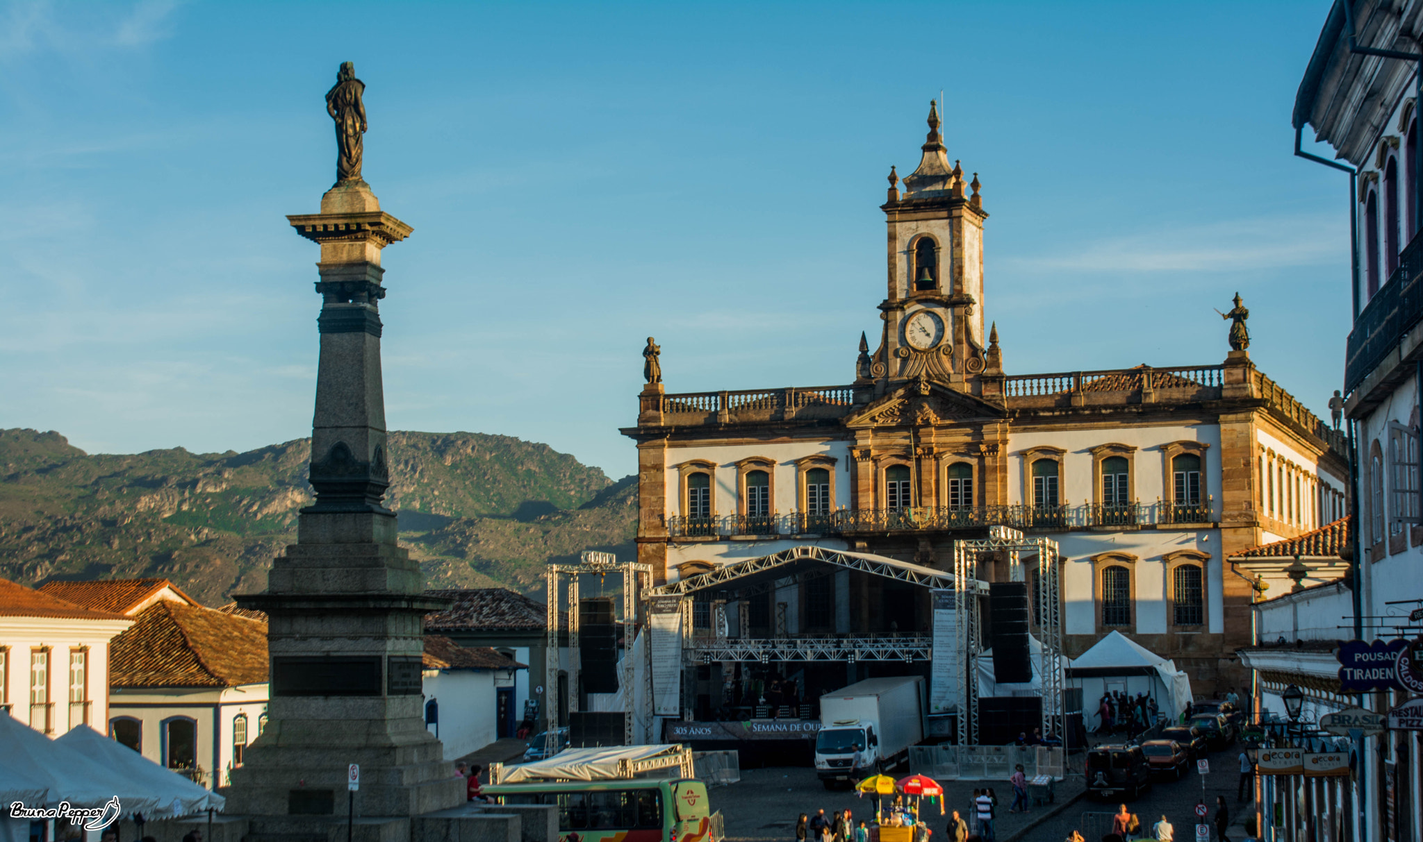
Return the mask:
<svg viewBox="0 0 1423 842">
<path fill-rule="evenodd" d="M 712 661 L 926 661 L 929 634 L 855 634 L 845 637 L 714 637 L 693 639 L 693 663 Z"/>
</svg>

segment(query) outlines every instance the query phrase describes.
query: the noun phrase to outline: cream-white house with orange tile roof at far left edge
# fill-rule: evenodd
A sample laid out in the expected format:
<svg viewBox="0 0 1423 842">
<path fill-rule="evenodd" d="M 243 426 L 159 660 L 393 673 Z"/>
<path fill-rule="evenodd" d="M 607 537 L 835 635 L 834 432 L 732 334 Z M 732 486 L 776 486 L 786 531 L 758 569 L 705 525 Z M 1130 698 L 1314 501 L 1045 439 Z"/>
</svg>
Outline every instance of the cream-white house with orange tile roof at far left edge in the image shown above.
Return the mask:
<svg viewBox="0 0 1423 842">
<path fill-rule="evenodd" d="M 132 624 L 0 579 L 0 711 L 51 737 L 102 730 L 110 641 Z"/>
</svg>

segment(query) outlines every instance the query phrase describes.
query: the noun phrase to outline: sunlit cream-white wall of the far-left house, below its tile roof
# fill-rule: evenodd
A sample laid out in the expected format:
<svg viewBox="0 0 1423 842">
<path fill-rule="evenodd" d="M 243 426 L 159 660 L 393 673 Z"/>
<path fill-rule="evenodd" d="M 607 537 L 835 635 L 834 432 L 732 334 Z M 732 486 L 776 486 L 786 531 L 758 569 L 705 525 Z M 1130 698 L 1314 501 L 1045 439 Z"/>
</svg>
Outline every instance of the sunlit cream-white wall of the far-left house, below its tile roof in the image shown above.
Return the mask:
<svg viewBox="0 0 1423 842">
<path fill-rule="evenodd" d="M 61 617 L 0 617 L 0 646 L 7 649 L 4 703 L 10 715 L 30 723 L 30 651 L 50 650 L 50 701 L 54 737 L 70 730 L 70 650 L 88 649 L 90 725 L 108 723 L 108 644 L 132 620 L 73 620 Z"/>
</svg>

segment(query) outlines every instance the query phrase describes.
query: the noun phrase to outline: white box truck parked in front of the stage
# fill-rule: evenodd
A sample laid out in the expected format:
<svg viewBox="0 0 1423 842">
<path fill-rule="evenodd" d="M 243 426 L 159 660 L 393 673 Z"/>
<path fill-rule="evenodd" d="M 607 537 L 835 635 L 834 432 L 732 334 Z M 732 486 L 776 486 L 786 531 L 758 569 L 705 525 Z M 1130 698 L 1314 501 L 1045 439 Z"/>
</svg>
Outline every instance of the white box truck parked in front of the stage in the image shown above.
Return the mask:
<svg viewBox="0 0 1423 842">
<path fill-rule="evenodd" d="M 830 789 L 908 762 L 924 740 L 924 678 L 869 678 L 820 697 L 815 774 Z"/>
</svg>

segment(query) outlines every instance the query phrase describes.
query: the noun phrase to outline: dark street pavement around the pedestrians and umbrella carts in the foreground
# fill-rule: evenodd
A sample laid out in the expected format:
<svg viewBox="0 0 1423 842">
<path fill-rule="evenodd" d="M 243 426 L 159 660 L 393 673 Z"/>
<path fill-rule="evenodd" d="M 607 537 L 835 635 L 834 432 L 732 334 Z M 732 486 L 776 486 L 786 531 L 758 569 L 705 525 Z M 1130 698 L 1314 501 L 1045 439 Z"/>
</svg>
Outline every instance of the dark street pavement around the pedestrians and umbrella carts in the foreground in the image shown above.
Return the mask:
<svg viewBox="0 0 1423 842">
<path fill-rule="evenodd" d="M 1205 802 L 1215 812 L 1215 796 L 1224 795 L 1231 809 L 1234 832 L 1228 833 L 1229 842 L 1245 839 L 1239 828 L 1241 821 L 1248 815 L 1245 811 L 1252 805 L 1235 802 L 1235 787 L 1238 782 L 1239 744 L 1212 752 L 1210 755 L 1211 774 L 1205 775 Z M 945 806 L 948 811 L 958 808 L 968 818 L 968 805 L 975 787 L 992 785 L 999 798 L 996 836 L 998 842 L 1017 839 L 1019 842 L 1062 842 L 1072 831 L 1081 831 L 1087 842 L 1097 842 L 1101 831 L 1094 831 L 1094 821 L 1109 821 L 1104 814 L 1116 812 L 1120 801 L 1103 802 L 1089 798 L 1077 798 L 1083 789 L 1081 764 L 1083 754 L 1076 754 L 1069 761 L 1070 774 L 1066 781 L 1057 784 L 1056 802 L 1052 805 L 1033 806 L 1026 815 L 1007 812 L 1012 802 L 1012 787 L 992 781 L 943 781 Z M 895 772 L 902 777 L 908 772 Z M 1066 804 L 1077 798 L 1076 802 Z M 1134 802 L 1127 804 L 1127 809 L 1137 814 L 1141 821 L 1143 836 L 1150 836 L 1151 825 L 1164 814 L 1175 825 L 1175 839 L 1192 842 L 1195 839 L 1197 799 L 1201 798 L 1201 775 L 1194 768 L 1181 781 L 1157 781 L 1151 791 L 1141 795 Z M 794 842 L 795 818 L 800 814 L 814 815 L 824 808 L 825 815 L 837 809 L 850 809 L 854 821 L 868 819 L 874 812 L 874 801 L 867 795 L 861 798 L 857 792 L 827 791 L 815 778 L 815 769 L 804 767 L 780 767 L 763 769 L 743 769 L 741 782 L 730 787 L 717 787 L 712 791 L 712 808 L 721 811 L 726 821 L 726 835 L 730 842 Z M 1057 808 L 1062 808 L 1060 811 Z M 1056 812 L 1049 816 L 1047 814 Z M 1086 814 L 1086 815 L 1084 815 Z M 1090 814 L 1099 814 L 1093 816 Z M 945 829 L 946 816 L 941 816 L 938 808 L 922 815 L 933 831 L 932 842 L 948 842 Z M 1086 819 L 1086 824 L 1084 824 Z M 1026 831 L 1025 831 L 1026 828 Z M 1211 835 L 1215 842 L 1215 835 Z"/>
</svg>

